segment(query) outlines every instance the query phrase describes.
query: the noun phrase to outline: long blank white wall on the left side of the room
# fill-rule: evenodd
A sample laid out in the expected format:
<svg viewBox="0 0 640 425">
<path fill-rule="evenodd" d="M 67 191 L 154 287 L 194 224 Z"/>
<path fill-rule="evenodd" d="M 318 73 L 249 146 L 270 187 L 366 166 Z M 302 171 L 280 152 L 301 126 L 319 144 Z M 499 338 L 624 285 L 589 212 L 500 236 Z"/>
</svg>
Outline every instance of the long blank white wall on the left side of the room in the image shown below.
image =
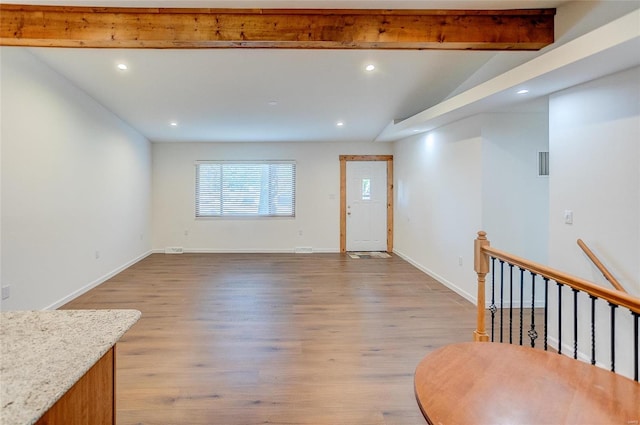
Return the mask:
<svg viewBox="0 0 640 425">
<path fill-rule="evenodd" d="M 150 251 L 150 143 L 25 49 L 0 54 L 2 309 L 55 307 Z"/>
</svg>

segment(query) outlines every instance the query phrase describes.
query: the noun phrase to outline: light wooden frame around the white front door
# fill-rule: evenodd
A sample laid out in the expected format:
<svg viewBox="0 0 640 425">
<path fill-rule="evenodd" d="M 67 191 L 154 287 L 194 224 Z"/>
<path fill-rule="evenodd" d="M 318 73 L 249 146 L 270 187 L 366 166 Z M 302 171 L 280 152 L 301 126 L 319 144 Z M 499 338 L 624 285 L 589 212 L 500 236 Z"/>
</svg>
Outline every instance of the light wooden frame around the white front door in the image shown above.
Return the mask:
<svg viewBox="0 0 640 425">
<path fill-rule="evenodd" d="M 347 161 L 387 163 L 387 252 L 393 251 L 393 155 L 340 155 L 340 252 L 347 252 Z"/>
</svg>

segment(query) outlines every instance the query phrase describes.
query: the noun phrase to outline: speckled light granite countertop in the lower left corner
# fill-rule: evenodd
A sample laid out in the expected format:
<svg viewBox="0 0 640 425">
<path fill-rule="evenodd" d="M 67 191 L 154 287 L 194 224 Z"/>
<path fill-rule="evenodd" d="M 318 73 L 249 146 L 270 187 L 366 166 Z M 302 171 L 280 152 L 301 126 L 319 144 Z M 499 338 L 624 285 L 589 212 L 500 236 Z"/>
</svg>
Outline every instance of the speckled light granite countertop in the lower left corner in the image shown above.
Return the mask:
<svg viewBox="0 0 640 425">
<path fill-rule="evenodd" d="M 35 423 L 140 315 L 137 310 L 0 313 L 0 423 Z"/>
</svg>

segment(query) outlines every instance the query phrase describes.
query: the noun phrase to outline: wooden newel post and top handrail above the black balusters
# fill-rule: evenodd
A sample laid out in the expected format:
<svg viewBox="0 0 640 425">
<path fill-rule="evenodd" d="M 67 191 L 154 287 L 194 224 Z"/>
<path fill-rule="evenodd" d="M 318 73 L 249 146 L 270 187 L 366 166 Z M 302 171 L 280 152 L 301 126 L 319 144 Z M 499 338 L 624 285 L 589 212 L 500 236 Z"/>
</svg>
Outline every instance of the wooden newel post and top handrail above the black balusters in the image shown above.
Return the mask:
<svg viewBox="0 0 640 425">
<path fill-rule="evenodd" d="M 478 258 L 478 256 L 480 256 L 480 258 Z M 489 241 L 486 238 L 486 233 L 480 231 L 478 232 L 478 238 L 476 239 L 476 259 L 475 259 L 476 272 L 478 272 L 479 264 L 481 265 L 487 264 L 487 269 L 488 269 L 488 262 L 489 262 L 490 256 L 500 260 L 504 260 L 510 264 L 513 264 L 514 266 L 521 267 L 525 270 L 532 271 L 540 276 L 546 277 L 550 280 L 554 280 L 558 283 L 562 283 L 571 288 L 575 288 L 580 291 L 586 292 L 587 294 L 593 295 L 594 297 L 602 298 L 612 304 L 616 304 L 621 307 L 626 307 L 629 310 L 633 311 L 634 313 L 640 314 L 640 298 L 636 298 L 630 294 L 627 294 L 626 292 L 621 292 L 615 289 L 604 288 L 593 282 L 589 282 L 588 280 L 581 279 L 576 276 L 572 276 L 560 270 L 547 267 L 545 265 L 493 248 L 492 246 L 489 245 Z M 481 268 L 481 271 L 484 274 L 488 273 L 488 270 L 487 271 L 484 271 L 484 270 L 485 270 L 484 268 Z M 482 279 L 484 281 L 484 275 L 482 276 Z M 478 273 L 478 280 L 480 280 L 480 273 Z M 481 295 L 480 291 L 481 291 L 481 288 L 478 287 L 478 300 L 480 300 L 480 295 Z M 482 305 L 480 304 L 480 302 L 478 302 L 478 309 L 479 310 L 482 309 L 483 315 L 484 315 L 484 309 L 485 309 L 484 284 L 482 288 L 482 299 L 483 299 Z M 478 328 L 480 328 L 480 324 L 481 324 L 480 321 L 478 321 Z M 482 321 L 482 324 L 484 324 L 484 319 Z M 476 332 L 479 332 L 479 331 L 484 331 L 484 329 L 478 329 Z M 486 334 L 486 331 L 484 331 L 484 333 Z"/>
</svg>

